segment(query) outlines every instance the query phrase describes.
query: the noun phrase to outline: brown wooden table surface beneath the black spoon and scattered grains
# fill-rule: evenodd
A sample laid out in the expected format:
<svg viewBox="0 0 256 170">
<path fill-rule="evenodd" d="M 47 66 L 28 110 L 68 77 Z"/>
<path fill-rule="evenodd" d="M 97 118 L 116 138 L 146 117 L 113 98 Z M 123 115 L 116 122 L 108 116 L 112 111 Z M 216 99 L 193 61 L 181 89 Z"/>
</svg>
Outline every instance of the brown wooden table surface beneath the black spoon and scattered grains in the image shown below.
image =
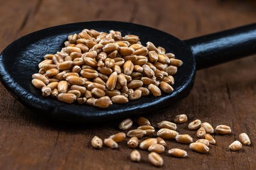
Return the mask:
<svg viewBox="0 0 256 170">
<path fill-rule="evenodd" d="M 22 35 L 59 24 L 90 20 L 139 23 L 173 34 L 180 39 L 217 32 L 256 22 L 253 0 L 0 0 L 0 51 Z M 17 74 L 22 74 L 17 69 Z M 188 157 L 177 159 L 163 153 L 162 169 L 256 170 L 256 56 L 197 71 L 191 94 L 169 108 L 144 115 L 154 126 L 185 113 L 188 120 L 201 119 L 231 126 L 232 134 L 215 135 L 216 145 L 199 154 L 188 145 L 167 141 Z M 142 161 L 129 159 L 126 142 L 118 150 L 94 150 L 90 140 L 118 132 L 118 121 L 98 124 L 57 122 L 30 112 L 0 85 L 1 170 L 153 170 L 147 151 Z M 178 125 L 190 134 L 188 123 Z M 136 128 L 136 125 L 133 126 Z M 229 144 L 242 132 L 252 141 L 239 152 Z M 126 139 L 127 140 L 127 139 Z"/>
</svg>

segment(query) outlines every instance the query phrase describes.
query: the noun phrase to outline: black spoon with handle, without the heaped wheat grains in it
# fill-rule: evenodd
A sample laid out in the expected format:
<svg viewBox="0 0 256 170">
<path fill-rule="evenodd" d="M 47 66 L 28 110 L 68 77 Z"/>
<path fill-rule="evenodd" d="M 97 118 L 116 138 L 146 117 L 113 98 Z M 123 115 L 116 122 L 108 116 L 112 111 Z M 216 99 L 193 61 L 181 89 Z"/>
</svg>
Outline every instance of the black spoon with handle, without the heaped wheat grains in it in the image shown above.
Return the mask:
<svg viewBox="0 0 256 170">
<path fill-rule="evenodd" d="M 166 51 L 173 52 L 176 58 L 184 63 L 175 75 L 174 92 L 163 93 L 157 98 L 150 95 L 126 104 L 113 104 L 107 109 L 77 103 L 66 104 L 56 99 L 42 97 L 40 90 L 31 84 L 31 76 L 38 71 L 42 56 L 60 51 L 68 35 L 79 33 L 84 28 L 136 34 L 139 35 L 143 45 L 151 41 L 156 46 L 162 46 Z M 19 102 L 35 113 L 66 121 L 106 121 L 157 112 L 168 107 L 173 102 L 188 96 L 197 69 L 255 52 L 256 24 L 182 41 L 171 34 L 138 24 L 116 21 L 81 22 L 46 28 L 11 43 L 0 55 L 0 81 Z"/>
</svg>

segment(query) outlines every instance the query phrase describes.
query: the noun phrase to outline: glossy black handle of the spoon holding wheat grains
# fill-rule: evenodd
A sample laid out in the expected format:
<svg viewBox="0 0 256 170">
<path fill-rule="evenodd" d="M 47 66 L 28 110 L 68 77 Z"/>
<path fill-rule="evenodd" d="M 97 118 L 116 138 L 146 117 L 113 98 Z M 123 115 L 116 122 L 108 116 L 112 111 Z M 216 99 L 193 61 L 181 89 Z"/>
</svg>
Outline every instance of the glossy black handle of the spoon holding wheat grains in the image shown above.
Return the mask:
<svg viewBox="0 0 256 170">
<path fill-rule="evenodd" d="M 190 45 L 197 69 L 256 53 L 256 23 L 184 41 Z"/>
</svg>

